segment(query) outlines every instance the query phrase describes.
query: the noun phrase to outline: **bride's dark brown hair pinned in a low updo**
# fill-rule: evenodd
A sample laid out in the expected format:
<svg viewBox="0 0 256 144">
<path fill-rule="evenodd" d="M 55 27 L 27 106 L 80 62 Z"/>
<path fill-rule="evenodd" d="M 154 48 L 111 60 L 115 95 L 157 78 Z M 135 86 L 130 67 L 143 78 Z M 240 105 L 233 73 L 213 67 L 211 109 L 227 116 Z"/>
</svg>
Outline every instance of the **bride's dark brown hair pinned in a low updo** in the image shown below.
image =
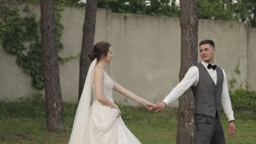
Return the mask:
<svg viewBox="0 0 256 144">
<path fill-rule="evenodd" d="M 89 53 L 88 57 L 93 61 L 97 58 L 99 61 L 101 58 L 104 58 L 108 55 L 110 44 L 105 41 L 100 41 L 94 45 L 94 50 Z"/>
</svg>

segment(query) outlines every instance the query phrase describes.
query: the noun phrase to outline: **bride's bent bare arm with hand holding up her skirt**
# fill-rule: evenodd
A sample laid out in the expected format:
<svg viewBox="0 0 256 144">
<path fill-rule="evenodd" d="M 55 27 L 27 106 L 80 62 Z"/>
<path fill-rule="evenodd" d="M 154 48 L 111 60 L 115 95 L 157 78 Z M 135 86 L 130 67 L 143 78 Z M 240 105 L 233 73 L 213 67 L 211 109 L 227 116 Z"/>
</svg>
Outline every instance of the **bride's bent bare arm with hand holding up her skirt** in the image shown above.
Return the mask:
<svg viewBox="0 0 256 144">
<path fill-rule="evenodd" d="M 112 101 L 104 97 L 103 94 L 103 71 L 100 68 L 96 68 L 94 70 L 94 86 L 95 86 L 95 97 L 102 105 L 109 106 L 114 109 L 118 109 L 118 106 L 114 104 Z"/>
</svg>

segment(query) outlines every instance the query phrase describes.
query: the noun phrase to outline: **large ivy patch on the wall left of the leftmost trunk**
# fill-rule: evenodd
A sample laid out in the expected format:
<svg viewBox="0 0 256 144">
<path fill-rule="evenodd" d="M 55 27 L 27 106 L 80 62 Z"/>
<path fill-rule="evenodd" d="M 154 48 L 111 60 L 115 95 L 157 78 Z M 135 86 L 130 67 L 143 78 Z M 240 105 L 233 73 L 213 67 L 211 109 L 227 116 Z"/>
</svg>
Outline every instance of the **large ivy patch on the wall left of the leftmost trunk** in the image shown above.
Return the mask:
<svg viewBox="0 0 256 144">
<path fill-rule="evenodd" d="M 25 9 L 27 11 L 28 8 Z M 0 19 L 4 19 L 0 25 L 1 29 L 4 29 L 0 35 L 4 50 L 17 55 L 17 63 L 32 76 L 33 85 L 38 89 L 43 89 L 39 21 L 33 14 L 21 17 L 18 9 L 2 6 L 0 14 Z M 30 41 L 30 46 L 24 45 L 26 41 Z"/>
</svg>

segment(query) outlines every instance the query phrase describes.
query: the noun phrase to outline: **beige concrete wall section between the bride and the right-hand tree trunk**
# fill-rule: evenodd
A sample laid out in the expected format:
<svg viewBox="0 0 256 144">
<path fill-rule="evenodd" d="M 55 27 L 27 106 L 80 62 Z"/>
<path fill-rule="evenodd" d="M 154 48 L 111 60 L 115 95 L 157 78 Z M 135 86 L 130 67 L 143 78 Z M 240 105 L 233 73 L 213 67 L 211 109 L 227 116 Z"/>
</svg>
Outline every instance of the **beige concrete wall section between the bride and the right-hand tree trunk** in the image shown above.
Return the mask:
<svg viewBox="0 0 256 144">
<path fill-rule="evenodd" d="M 111 14 L 109 27 L 114 52 L 110 76 L 145 99 L 161 101 L 178 83 L 179 19 Z M 121 94 L 114 96 L 120 103 L 135 104 Z"/>
</svg>

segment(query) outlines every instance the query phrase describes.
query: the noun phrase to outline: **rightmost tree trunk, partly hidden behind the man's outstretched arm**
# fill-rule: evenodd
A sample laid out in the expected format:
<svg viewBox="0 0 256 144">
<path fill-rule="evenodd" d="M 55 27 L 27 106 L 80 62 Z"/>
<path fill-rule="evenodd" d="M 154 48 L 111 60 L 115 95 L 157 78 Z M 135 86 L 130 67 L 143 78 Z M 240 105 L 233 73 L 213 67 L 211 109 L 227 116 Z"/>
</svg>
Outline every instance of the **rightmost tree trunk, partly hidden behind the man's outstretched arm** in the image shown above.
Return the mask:
<svg viewBox="0 0 256 144">
<path fill-rule="evenodd" d="M 197 63 L 198 20 L 195 0 L 180 1 L 181 25 L 181 81 L 188 69 Z M 177 143 L 194 143 L 194 96 L 191 88 L 179 98 Z"/>
</svg>

